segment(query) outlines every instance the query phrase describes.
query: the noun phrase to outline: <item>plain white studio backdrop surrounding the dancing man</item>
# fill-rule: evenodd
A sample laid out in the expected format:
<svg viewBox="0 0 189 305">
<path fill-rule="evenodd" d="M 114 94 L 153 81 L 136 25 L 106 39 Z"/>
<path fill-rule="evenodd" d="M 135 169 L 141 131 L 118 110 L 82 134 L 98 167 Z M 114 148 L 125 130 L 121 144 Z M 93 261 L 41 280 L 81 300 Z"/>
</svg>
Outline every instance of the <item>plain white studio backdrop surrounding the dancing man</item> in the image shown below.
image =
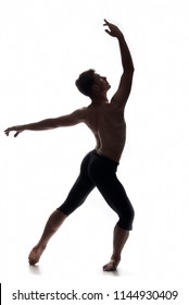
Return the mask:
<svg viewBox="0 0 189 305">
<path fill-rule="evenodd" d="M 0 277 L 8 295 L 47 288 L 48 281 L 56 289 L 71 282 L 75 289 L 102 291 L 109 285 L 187 286 L 187 9 L 184 0 L 0 2 Z M 136 69 L 118 169 L 136 210 L 134 231 L 118 271 L 104 274 L 116 216 L 93 191 L 50 242 L 40 265 L 29 268 L 30 248 L 65 199 L 94 139 L 81 124 L 17 138 L 7 138 L 3 130 L 88 105 L 74 85 L 86 69 L 108 76 L 111 98 L 122 66 L 116 39 L 104 33 L 104 17 L 124 32 Z"/>
</svg>

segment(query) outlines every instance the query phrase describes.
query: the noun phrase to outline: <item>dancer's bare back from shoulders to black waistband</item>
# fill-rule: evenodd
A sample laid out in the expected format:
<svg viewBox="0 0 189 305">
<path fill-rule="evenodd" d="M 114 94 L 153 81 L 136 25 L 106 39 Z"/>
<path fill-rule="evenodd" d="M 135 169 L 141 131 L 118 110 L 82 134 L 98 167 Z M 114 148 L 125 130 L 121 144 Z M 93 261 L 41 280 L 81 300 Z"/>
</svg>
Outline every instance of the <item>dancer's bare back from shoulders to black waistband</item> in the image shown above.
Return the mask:
<svg viewBox="0 0 189 305">
<path fill-rule="evenodd" d="M 85 109 L 84 122 L 96 137 L 97 152 L 118 162 L 126 141 L 124 107 L 111 102 L 90 105 Z"/>
</svg>

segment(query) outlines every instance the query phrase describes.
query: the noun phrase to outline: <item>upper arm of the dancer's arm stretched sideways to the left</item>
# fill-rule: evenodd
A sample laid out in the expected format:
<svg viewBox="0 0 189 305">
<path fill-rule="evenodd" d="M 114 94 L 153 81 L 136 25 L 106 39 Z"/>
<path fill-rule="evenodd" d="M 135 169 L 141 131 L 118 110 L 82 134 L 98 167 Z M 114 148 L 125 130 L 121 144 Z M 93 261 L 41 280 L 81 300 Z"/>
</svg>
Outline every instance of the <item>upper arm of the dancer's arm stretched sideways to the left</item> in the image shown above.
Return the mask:
<svg viewBox="0 0 189 305">
<path fill-rule="evenodd" d="M 73 125 L 84 122 L 85 109 L 86 108 L 77 109 L 70 114 L 53 119 L 55 127 L 73 126 Z"/>
</svg>

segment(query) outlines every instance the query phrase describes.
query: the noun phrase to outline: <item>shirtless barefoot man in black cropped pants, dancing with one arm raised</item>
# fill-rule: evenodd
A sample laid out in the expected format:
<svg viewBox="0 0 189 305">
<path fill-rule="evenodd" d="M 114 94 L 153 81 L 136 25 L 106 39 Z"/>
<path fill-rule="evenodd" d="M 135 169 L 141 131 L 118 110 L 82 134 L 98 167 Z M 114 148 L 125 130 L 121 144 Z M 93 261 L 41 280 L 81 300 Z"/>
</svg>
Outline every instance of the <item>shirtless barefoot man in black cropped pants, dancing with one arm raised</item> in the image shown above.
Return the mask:
<svg viewBox="0 0 189 305">
<path fill-rule="evenodd" d="M 121 260 L 122 249 L 133 229 L 134 209 L 126 192 L 116 178 L 116 169 L 125 146 L 126 124 L 124 109 L 131 89 L 134 64 L 128 46 L 119 28 L 104 20 L 105 32 L 117 38 L 121 50 L 123 74 L 118 89 L 109 101 L 106 93 L 110 84 L 103 77 L 88 70 L 76 81 L 80 93 L 91 99 L 88 107 L 84 107 L 71 114 L 40 122 L 13 126 L 4 132 L 15 132 L 16 137 L 23 131 L 45 131 L 56 127 L 72 126 L 85 123 L 97 139 L 96 149 L 87 154 L 80 166 L 80 173 L 73 185 L 67 198 L 61 207 L 49 217 L 43 233 L 32 249 L 28 260 L 30 265 L 39 261 L 49 240 L 56 232 L 63 221 L 87 198 L 89 193 L 98 187 L 109 206 L 117 213 L 118 222 L 113 232 L 113 253 L 110 261 L 103 266 L 104 271 L 114 271 Z"/>
</svg>

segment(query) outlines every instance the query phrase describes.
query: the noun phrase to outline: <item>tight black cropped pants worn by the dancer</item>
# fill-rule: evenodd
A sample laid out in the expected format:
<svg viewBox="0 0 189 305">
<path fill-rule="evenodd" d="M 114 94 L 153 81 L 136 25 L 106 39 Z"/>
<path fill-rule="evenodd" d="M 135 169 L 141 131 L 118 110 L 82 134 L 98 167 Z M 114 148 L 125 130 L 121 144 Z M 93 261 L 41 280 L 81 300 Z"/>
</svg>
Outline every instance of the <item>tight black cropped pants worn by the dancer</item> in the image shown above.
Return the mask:
<svg viewBox="0 0 189 305">
<path fill-rule="evenodd" d="M 96 150 L 87 154 L 76 182 L 58 209 L 68 216 L 97 186 L 108 205 L 117 213 L 117 225 L 124 230 L 131 230 L 135 212 L 123 185 L 117 180 L 117 166 L 118 162 L 97 154 Z"/>
</svg>

